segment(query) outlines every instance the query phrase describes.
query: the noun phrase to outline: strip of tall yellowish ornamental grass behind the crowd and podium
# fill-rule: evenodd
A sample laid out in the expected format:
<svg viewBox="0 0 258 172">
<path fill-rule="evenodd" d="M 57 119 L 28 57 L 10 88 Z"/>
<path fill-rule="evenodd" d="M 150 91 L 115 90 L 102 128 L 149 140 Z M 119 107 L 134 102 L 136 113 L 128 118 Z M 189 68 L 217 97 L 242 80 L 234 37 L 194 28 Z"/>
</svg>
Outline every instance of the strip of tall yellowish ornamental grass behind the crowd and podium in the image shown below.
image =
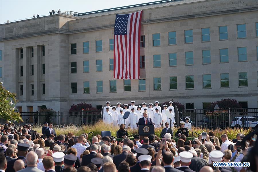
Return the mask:
<svg viewBox="0 0 258 172">
<path fill-rule="evenodd" d="M 41 132 L 43 126 L 34 126 L 33 130 L 36 130 L 37 132 Z M 176 133 L 179 127 L 174 127 L 173 133 Z M 75 126 L 75 125 L 68 125 L 65 127 L 58 127 L 54 126 L 54 129 L 56 131 L 56 134 L 67 134 L 68 132 L 73 132 L 75 136 L 78 136 L 83 133 L 89 133 L 93 132 L 94 136 L 97 134 L 100 134 L 101 131 L 111 131 L 112 136 L 116 136 L 116 132 L 119 130 L 118 126 L 112 126 L 110 124 L 104 124 L 102 121 L 99 121 L 98 123 L 94 125 L 83 125 L 83 126 Z M 128 134 L 131 136 L 134 136 L 135 134 L 138 134 L 138 129 L 128 129 Z M 155 128 L 155 134 L 157 136 L 160 136 L 160 133 L 162 131 L 162 128 Z M 201 134 L 202 132 L 209 132 L 211 131 L 210 129 L 202 129 L 202 128 L 195 128 L 192 126 L 192 130 L 189 132 L 189 137 L 197 137 L 196 134 L 192 135 L 192 132 L 195 131 L 198 134 Z M 248 133 L 251 132 L 251 128 L 248 129 L 243 129 L 243 128 L 226 128 L 226 129 L 215 129 L 213 130 L 215 133 L 215 136 L 220 138 L 221 134 L 227 134 L 229 139 L 234 139 L 236 138 L 237 133 L 243 133 L 247 135 Z M 92 135 L 89 136 L 90 138 Z"/>
</svg>

